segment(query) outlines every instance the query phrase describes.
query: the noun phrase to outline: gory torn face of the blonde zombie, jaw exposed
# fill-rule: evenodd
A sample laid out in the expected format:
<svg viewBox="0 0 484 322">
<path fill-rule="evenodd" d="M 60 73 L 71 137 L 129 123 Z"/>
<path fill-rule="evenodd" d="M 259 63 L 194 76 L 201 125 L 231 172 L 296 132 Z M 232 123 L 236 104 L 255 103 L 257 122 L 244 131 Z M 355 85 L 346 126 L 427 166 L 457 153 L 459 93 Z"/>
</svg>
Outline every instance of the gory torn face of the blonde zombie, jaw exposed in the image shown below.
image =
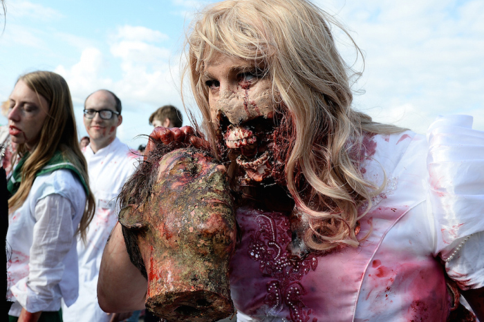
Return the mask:
<svg viewBox="0 0 484 322">
<path fill-rule="evenodd" d="M 236 159 L 246 180 L 261 182 L 272 171 L 271 79 L 263 66 L 218 54 L 205 62 L 203 82 L 220 149 Z"/>
</svg>

